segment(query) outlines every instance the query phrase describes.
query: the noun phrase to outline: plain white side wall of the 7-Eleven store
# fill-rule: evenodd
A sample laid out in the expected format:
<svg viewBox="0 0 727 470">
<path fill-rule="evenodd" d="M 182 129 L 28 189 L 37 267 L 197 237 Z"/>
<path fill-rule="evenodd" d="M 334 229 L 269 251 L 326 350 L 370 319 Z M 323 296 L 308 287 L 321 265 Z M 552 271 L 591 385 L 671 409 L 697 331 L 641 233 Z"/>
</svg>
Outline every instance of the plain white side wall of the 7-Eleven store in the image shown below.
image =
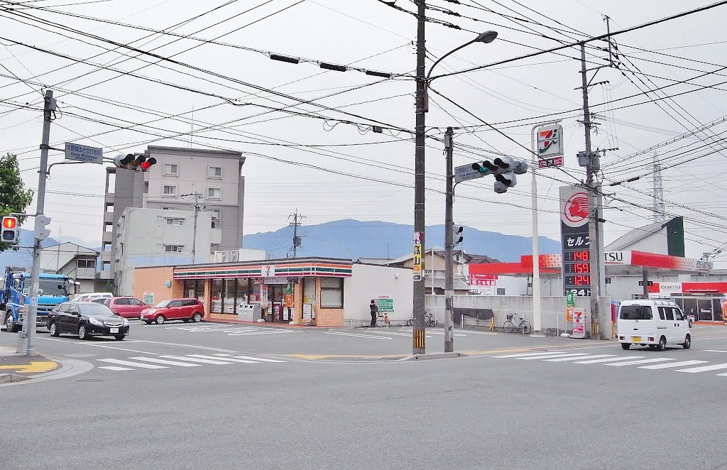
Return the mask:
<svg viewBox="0 0 727 470">
<path fill-rule="evenodd" d="M 411 269 L 354 263 L 351 277 L 343 282 L 345 324 L 369 324 L 371 299 L 384 295 L 394 300 L 394 311 L 389 314 L 392 322 L 406 322 L 411 317 L 411 299 L 414 298 Z"/>
</svg>

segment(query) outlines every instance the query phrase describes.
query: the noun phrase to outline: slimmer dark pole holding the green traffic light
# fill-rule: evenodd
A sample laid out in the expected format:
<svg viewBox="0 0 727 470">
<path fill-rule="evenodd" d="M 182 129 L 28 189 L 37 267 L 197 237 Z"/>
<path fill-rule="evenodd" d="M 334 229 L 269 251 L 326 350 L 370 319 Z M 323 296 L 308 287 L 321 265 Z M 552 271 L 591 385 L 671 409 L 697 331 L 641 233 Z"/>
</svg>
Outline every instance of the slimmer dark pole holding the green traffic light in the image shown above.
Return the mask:
<svg viewBox="0 0 727 470">
<path fill-rule="evenodd" d="M 454 297 L 454 273 L 452 272 L 452 251 L 454 251 L 454 220 L 452 209 L 454 205 L 454 179 L 452 152 L 454 131 L 447 127 L 444 134 L 444 153 L 446 154 L 446 203 L 444 207 L 444 352 L 454 351 L 454 308 L 452 300 Z"/>
</svg>

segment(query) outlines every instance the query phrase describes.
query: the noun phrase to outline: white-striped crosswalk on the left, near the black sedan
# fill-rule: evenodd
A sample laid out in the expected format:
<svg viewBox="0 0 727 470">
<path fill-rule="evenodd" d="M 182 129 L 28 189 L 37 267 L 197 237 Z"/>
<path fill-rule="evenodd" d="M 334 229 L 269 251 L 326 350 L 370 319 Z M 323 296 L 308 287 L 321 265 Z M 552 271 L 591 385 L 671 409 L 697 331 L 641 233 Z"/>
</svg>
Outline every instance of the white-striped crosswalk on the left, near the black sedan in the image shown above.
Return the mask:
<svg viewBox="0 0 727 470">
<path fill-rule="evenodd" d="M 237 354 L 185 354 L 183 356 L 176 356 L 174 354 L 154 354 L 148 356 L 127 357 L 125 359 L 97 359 L 97 361 L 104 364 L 98 366 L 99 369 L 113 370 L 115 372 L 139 369 L 169 369 L 172 367 L 202 367 L 204 365 L 287 362 L 280 359 L 240 356 Z"/>
</svg>

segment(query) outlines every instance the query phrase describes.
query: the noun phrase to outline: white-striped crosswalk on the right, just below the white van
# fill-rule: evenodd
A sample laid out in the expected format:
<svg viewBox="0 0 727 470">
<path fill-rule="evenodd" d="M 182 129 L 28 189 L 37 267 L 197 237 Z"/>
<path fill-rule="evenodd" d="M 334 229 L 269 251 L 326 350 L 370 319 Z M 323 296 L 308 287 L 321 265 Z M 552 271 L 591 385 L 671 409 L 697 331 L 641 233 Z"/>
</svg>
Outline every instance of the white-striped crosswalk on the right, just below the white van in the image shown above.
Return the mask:
<svg viewBox="0 0 727 470">
<path fill-rule="evenodd" d="M 635 366 L 638 369 L 672 370 L 691 374 L 727 370 L 727 363 L 709 364 L 709 361 L 702 359 L 680 360 L 680 358 L 676 357 L 619 356 L 617 354 L 591 354 L 572 351 L 510 353 L 489 357 L 517 361 L 571 362 L 572 364 L 605 365 L 609 367 Z M 715 375 L 727 377 L 727 373 Z"/>
</svg>

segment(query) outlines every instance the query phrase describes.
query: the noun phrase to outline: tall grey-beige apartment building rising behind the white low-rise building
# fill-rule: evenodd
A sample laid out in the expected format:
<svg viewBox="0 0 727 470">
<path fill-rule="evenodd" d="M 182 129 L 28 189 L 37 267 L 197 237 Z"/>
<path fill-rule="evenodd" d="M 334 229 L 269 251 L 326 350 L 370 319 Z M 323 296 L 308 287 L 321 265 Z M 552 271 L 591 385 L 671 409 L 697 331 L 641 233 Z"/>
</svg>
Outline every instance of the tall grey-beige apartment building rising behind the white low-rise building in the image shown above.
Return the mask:
<svg viewBox="0 0 727 470">
<path fill-rule="evenodd" d="M 119 220 L 129 207 L 194 212 L 196 203 L 198 212 L 211 212 L 209 226 L 198 224 L 198 232 L 209 231 L 212 242 L 204 257 L 201 253 L 196 257 L 197 262 L 207 262 L 211 252 L 241 248 L 245 157 L 240 152 L 149 146 L 144 156 L 157 162 L 147 172 L 106 169 L 101 279 L 119 285 Z M 152 244 L 153 231 L 146 236 Z M 156 245 L 164 250 L 162 244 Z"/>
</svg>

